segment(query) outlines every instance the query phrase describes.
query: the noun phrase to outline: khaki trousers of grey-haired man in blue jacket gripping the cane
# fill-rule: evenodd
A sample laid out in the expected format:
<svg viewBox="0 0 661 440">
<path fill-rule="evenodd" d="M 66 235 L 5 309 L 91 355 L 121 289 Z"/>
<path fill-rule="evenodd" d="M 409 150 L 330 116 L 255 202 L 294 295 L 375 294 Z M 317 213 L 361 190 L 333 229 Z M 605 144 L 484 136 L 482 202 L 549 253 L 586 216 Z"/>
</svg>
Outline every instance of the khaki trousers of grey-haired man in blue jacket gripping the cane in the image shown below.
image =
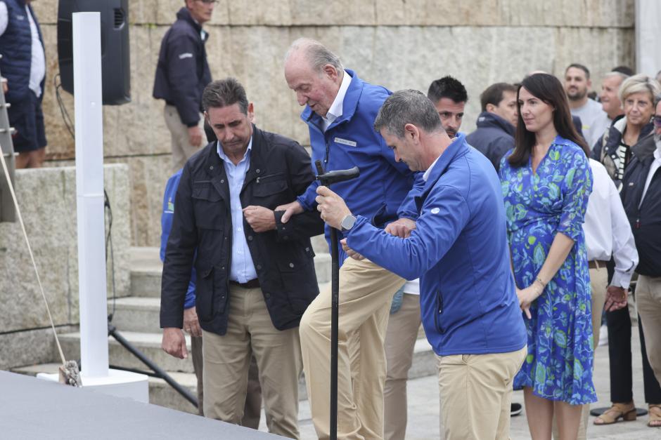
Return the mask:
<svg viewBox="0 0 661 440">
<path fill-rule="evenodd" d="M 512 382 L 526 354 L 437 356 L 446 440 L 509 438 Z"/>
</svg>

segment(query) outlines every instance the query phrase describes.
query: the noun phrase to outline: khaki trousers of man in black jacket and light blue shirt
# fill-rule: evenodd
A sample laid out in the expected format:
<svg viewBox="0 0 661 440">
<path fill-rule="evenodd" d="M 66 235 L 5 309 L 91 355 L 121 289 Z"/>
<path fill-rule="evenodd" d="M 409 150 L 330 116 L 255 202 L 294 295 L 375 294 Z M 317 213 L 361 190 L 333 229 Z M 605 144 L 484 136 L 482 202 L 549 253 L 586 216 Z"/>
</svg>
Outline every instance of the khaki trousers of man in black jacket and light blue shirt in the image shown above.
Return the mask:
<svg viewBox="0 0 661 440">
<path fill-rule="evenodd" d="M 229 293 L 227 333 L 202 333 L 205 415 L 240 424 L 250 356 L 254 354 L 269 432 L 297 439 L 302 368 L 298 329 L 276 330 L 261 289 L 231 285 Z"/>
</svg>

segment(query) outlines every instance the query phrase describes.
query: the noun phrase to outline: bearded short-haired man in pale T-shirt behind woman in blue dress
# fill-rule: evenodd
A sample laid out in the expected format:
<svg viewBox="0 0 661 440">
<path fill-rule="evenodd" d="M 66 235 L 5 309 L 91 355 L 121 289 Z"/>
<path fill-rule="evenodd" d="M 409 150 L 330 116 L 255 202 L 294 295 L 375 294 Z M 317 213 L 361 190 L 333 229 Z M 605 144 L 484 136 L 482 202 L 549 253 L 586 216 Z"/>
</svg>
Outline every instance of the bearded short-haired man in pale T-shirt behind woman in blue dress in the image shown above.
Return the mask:
<svg viewBox="0 0 661 440">
<path fill-rule="evenodd" d="M 603 132 L 610 127 L 608 114 L 601 104 L 588 98 L 592 86 L 590 71 L 584 65 L 570 64 L 565 70 L 565 93 L 573 116 L 581 118 L 582 131 L 588 145 L 592 147 Z"/>
</svg>

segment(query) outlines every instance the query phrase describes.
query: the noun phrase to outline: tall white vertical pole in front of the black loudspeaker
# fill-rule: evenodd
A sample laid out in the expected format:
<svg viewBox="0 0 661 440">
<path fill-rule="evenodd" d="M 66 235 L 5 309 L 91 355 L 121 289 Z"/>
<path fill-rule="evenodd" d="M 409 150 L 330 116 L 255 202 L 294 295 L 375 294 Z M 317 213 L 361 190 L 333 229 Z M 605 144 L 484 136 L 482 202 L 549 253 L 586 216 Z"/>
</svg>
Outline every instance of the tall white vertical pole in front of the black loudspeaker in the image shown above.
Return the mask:
<svg viewBox="0 0 661 440">
<path fill-rule="evenodd" d="M 108 376 L 101 14 L 73 14 L 81 373 Z M 84 382 L 84 380 L 83 380 Z"/>
</svg>

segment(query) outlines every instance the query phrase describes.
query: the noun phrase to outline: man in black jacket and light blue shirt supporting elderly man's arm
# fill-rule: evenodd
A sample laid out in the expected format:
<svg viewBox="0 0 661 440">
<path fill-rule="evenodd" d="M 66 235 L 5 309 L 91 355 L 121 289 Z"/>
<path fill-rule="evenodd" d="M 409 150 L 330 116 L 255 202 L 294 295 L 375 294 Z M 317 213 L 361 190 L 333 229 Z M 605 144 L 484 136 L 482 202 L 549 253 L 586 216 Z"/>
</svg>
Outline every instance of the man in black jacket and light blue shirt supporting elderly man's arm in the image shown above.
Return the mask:
<svg viewBox="0 0 661 440">
<path fill-rule="evenodd" d="M 217 135 L 191 157 L 175 197 L 165 251 L 160 324 L 163 349 L 186 357 L 181 333 L 193 260 L 195 308 L 203 329 L 204 413 L 238 424 L 251 354 L 269 431 L 298 438 L 298 325 L 319 294 L 310 236 L 323 232 L 317 211 L 281 222 L 276 206 L 314 180 L 297 142 L 252 125 L 252 103 L 236 79 L 203 93 Z"/>
</svg>

